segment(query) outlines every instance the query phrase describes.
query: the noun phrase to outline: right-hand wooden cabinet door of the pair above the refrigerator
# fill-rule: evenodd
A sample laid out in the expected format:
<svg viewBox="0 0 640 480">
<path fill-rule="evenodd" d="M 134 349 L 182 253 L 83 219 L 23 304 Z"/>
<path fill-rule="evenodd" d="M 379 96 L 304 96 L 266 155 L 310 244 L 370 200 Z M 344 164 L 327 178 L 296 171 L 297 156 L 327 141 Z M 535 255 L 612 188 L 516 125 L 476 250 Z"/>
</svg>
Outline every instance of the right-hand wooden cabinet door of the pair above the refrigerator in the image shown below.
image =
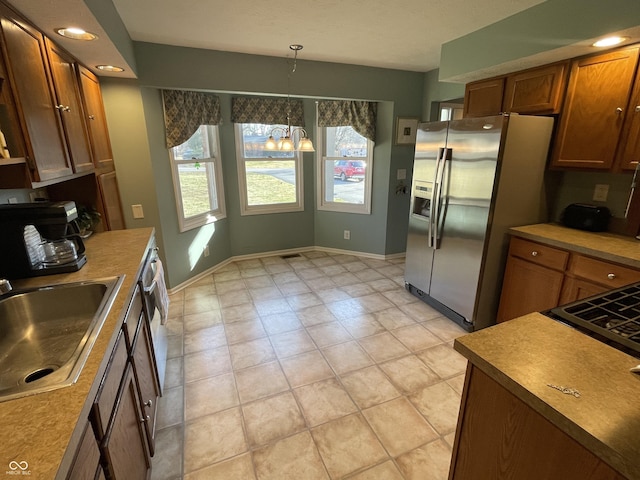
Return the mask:
<svg viewBox="0 0 640 480">
<path fill-rule="evenodd" d="M 503 111 L 524 114 L 558 113 L 568 63 L 525 70 L 507 77 Z"/>
</svg>

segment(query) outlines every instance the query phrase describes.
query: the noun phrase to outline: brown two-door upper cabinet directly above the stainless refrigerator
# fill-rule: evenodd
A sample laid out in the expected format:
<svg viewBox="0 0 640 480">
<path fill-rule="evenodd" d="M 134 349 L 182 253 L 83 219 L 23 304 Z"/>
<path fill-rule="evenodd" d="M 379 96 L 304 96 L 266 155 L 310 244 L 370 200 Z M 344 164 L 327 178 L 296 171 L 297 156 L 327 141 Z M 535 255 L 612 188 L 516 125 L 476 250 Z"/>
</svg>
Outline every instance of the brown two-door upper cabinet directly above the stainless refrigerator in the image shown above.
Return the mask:
<svg viewBox="0 0 640 480">
<path fill-rule="evenodd" d="M 568 62 L 560 62 L 469 83 L 465 88 L 464 116 L 558 113 L 567 69 Z"/>
</svg>

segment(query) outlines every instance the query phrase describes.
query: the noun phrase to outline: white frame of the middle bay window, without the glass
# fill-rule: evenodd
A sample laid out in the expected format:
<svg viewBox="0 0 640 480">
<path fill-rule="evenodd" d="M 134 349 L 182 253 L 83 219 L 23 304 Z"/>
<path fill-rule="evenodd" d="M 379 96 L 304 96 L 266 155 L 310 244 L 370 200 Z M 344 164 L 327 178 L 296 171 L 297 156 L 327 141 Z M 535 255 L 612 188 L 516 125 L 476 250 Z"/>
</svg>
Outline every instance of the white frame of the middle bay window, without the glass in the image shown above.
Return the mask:
<svg viewBox="0 0 640 480">
<path fill-rule="evenodd" d="M 234 134 L 236 139 L 236 161 L 238 173 L 238 192 L 240 196 L 240 215 L 269 215 L 274 213 L 293 213 L 304 211 L 304 163 L 303 154 L 299 151 L 293 151 L 290 158 L 254 158 L 245 157 L 243 150 L 242 126 L 244 123 L 234 124 Z M 267 124 L 263 124 L 267 125 Z M 276 125 L 272 125 L 275 128 Z M 293 130 L 295 127 L 291 127 Z M 249 192 L 247 191 L 247 176 L 245 162 L 247 161 L 293 161 L 295 168 L 295 191 L 296 201 L 289 203 L 271 203 L 267 205 L 249 205 Z"/>
</svg>

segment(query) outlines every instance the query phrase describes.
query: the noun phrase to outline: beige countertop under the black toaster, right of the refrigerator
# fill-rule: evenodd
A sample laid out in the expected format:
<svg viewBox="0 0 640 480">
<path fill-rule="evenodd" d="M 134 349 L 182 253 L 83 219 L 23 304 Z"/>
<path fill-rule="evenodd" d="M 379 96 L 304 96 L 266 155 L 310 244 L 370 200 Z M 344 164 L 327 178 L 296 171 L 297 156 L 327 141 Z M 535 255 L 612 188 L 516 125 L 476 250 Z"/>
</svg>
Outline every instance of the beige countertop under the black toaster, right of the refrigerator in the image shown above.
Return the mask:
<svg viewBox="0 0 640 480">
<path fill-rule="evenodd" d="M 640 269 L 640 240 L 608 232 L 585 232 L 553 223 L 509 229 L 511 235 Z"/>
</svg>

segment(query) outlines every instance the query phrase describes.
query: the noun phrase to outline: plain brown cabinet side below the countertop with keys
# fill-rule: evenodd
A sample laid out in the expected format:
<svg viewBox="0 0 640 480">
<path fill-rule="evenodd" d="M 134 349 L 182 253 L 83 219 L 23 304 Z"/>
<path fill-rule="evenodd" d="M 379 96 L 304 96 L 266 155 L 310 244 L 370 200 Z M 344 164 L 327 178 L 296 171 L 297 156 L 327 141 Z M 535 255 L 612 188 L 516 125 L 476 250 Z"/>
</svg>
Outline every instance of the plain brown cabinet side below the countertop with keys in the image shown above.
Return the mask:
<svg viewBox="0 0 640 480">
<path fill-rule="evenodd" d="M 624 480 L 609 465 L 469 364 L 449 480 Z"/>
</svg>

